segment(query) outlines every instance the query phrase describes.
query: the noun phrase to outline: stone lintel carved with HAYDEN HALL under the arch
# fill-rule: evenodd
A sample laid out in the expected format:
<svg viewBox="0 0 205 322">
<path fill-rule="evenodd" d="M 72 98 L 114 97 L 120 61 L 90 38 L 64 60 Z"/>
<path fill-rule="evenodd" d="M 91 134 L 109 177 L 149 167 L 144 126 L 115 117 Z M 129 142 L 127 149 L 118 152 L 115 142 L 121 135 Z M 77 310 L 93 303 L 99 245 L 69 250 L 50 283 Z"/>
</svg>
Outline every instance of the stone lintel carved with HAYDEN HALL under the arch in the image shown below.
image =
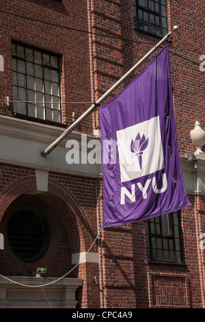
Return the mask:
<svg viewBox="0 0 205 322">
<path fill-rule="evenodd" d="M 57 277 L 8 278 L 14 282 L 0 278 L 0 308 L 76 308 L 75 291 L 83 284 L 77 278 L 57 282 Z"/>
</svg>

